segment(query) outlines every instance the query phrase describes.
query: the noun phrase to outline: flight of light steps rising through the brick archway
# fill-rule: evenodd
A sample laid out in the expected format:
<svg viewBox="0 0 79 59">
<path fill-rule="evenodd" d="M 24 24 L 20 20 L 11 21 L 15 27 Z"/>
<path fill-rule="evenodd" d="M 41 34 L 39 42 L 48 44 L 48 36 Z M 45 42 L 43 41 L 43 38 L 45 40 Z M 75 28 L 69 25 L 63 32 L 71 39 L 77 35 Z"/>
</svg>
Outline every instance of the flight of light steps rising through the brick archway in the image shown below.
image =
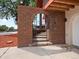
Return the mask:
<svg viewBox="0 0 79 59">
<path fill-rule="evenodd" d="M 47 45 L 52 45 L 52 43 L 49 42 L 49 40 L 47 40 L 46 32 L 41 32 L 34 37 L 32 46 L 47 46 Z"/>
</svg>

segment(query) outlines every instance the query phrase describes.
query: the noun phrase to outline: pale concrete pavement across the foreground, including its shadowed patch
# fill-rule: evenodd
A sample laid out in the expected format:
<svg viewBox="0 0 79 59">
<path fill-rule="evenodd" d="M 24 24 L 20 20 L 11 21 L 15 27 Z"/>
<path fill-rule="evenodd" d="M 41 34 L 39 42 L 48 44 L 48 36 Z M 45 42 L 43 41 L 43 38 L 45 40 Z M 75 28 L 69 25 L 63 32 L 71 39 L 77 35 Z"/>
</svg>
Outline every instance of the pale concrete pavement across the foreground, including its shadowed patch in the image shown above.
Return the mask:
<svg viewBox="0 0 79 59">
<path fill-rule="evenodd" d="M 0 59 L 79 59 L 79 49 L 69 51 L 61 46 L 10 47 L 0 48 L 0 55 Z"/>
</svg>

